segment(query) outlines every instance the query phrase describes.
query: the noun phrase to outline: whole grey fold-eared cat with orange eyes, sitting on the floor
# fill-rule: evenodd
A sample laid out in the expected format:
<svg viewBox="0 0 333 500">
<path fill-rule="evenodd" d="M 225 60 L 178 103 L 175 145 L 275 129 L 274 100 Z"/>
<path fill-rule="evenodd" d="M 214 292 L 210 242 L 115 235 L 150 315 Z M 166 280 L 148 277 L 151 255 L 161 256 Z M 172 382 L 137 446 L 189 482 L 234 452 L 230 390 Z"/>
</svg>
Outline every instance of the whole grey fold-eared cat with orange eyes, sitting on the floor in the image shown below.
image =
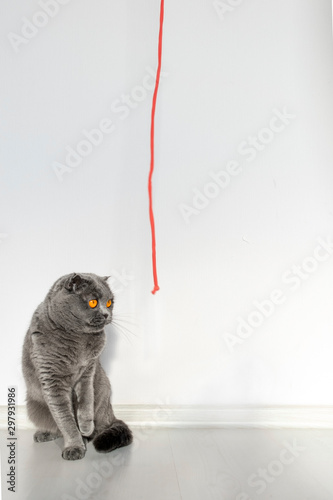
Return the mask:
<svg viewBox="0 0 333 500">
<path fill-rule="evenodd" d="M 27 412 L 38 429 L 34 440 L 62 436 L 65 460 L 82 459 L 88 441 L 107 453 L 133 440 L 113 413 L 110 382 L 99 360 L 114 304 L 107 279 L 88 273 L 59 278 L 24 339 Z"/>
</svg>

